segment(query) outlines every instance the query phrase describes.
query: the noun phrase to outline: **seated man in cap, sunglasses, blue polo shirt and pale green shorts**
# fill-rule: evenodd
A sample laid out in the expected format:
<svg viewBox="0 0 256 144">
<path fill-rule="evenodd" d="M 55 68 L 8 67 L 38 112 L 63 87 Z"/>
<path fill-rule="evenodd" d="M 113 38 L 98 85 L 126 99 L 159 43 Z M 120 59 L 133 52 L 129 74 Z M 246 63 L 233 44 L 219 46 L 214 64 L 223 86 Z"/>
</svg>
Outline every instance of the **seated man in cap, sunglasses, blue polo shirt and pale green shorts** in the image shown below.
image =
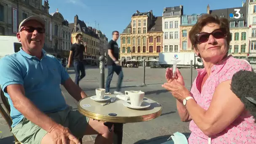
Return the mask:
<svg viewBox="0 0 256 144">
<path fill-rule="evenodd" d="M 87 97 L 54 56 L 45 54 L 45 21 L 21 21 L 18 53 L 0 59 L 0 86 L 11 107 L 11 132 L 23 144 L 79 144 L 77 138 L 98 134 L 95 144 L 112 144 L 103 122 L 72 111 L 60 84 L 77 101 Z"/>
</svg>

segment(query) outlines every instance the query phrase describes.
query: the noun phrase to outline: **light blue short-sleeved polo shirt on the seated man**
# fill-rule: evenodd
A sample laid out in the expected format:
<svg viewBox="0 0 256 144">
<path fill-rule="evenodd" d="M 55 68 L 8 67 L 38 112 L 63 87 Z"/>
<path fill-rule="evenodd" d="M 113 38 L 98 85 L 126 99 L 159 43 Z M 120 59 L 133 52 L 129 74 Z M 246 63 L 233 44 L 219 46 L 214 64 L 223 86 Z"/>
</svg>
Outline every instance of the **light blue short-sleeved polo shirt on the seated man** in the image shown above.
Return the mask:
<svg viewBox="0 0 256 144">
<path fill-rule="evenodd" d="M 0 85 L 2 90 L 8 85 L 24 86 L 25 96 L 42 112 L 58 112 L 67 108 L 60 84 L 69 78 L 68 73 L 54 56 L 43 53 L 42 59 L 31 56 L 22 48 L 17 53 L 0 59 Z M 11 106 L 11 118 L 17 125 L 23 115 L 13 107 L 10 96 L 4 91 Z"/>
</svg>

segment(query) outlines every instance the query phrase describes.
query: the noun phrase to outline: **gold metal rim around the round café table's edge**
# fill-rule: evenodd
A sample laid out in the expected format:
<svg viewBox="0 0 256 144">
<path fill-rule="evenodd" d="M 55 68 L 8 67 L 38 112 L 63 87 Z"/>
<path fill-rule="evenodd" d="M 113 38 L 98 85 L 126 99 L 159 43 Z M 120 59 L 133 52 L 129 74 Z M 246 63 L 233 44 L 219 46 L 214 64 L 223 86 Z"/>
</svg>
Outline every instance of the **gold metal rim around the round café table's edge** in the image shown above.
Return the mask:
<svg viewBox="0 0 256 144">
<path fill-rule="evenodd" d="M 83 98 L 83 99 L 85 99 L 85 98 Z M 83 99 L 81 99 L 81 100 L 83 100 Z M 112 123 L 136 123 L 136 122 L 144 122 L 144 121 L 152 120 L 156 117 L 159 117 L 162 114 L 162 109 L 163 109 L 162 104 L 158 103 L 161 105 L 161 109 L 158 112 L 148 114 L 148 115 L 140 115 L 140 116 L 136 116 L 136 117 L 118 117 L 118 116 L 110 116 L 110 115 L 100 115 L 100 114 L 96 114 L 93 112 L 89 112 L 80 106 L 80 101 L 78 102 L 77 110 L 81 114 L 85 115 L 86 117 L 95 119 L 95 120 L 112 122 Z"/>
</svg>

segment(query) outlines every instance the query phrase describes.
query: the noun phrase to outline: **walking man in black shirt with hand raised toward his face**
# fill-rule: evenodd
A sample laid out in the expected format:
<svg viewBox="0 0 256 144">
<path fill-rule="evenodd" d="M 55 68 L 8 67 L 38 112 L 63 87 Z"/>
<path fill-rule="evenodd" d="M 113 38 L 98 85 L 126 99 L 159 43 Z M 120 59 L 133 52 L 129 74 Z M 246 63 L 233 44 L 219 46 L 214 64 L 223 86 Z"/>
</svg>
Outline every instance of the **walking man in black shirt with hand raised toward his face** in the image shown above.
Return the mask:
<svg viewBox="0 0 256 144">
<path fill-rule="evenodd" d="M 75 84 L 79 85 L 79 81 L 85 77 L 85 66 L 83 64 L 83 52 L 86 53 L 86 43 L 83 43 L 83 35 L 77 34 L 75 36 L 77 40 L 71 46 L 71 50 L 69 53 L 69 61 L 67 67 L 70 67 L 72 60 L 74 61 L 74 69 L 75 69 Z M 81 72 L 81 75 L 80 75 Z"/>
</svg>

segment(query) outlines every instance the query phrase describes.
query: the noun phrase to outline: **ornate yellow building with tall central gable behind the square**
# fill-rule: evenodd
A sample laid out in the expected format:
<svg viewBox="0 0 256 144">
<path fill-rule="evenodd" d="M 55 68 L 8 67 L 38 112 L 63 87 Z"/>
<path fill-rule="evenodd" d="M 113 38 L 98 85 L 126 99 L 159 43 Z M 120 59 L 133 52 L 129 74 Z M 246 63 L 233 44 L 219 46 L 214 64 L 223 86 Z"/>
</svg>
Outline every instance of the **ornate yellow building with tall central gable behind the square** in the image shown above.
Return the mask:
<svg viewBox="0 0 256 144">
<path fill-rule="evenodd" d="M 158 59 L 163 51 L 162 16 L 154 16 L 152 10 L 133 13 L 120 40 L 120 61 Z"/>
</svg>

